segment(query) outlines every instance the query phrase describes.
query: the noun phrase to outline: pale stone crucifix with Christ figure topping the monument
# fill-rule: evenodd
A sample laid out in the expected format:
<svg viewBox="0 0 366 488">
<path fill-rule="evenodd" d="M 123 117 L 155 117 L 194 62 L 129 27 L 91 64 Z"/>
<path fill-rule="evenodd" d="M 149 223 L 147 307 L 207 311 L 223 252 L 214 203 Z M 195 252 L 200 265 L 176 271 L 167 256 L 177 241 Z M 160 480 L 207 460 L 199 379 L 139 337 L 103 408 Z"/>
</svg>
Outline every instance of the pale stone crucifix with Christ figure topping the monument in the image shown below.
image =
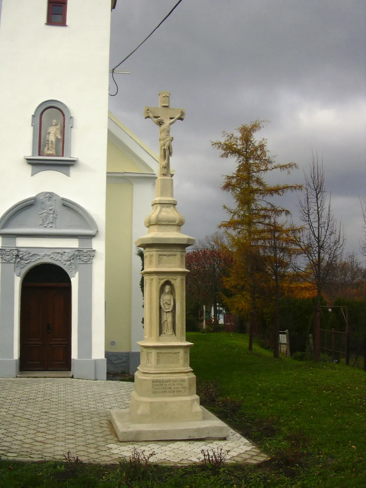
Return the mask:
<svg viewBox="0 0 366 488">
<path fill-rule="evenodd" d="M 173 154 L 170 126 L 177 120 L 183 121 L 183 108 L 170 108 L 170 93 L 159 93 L 159 107 L 145 107 L 143 116 L 150 118 L 159 127 L 159 177 L 171 178 L 169 158 Z"/>
</svg>

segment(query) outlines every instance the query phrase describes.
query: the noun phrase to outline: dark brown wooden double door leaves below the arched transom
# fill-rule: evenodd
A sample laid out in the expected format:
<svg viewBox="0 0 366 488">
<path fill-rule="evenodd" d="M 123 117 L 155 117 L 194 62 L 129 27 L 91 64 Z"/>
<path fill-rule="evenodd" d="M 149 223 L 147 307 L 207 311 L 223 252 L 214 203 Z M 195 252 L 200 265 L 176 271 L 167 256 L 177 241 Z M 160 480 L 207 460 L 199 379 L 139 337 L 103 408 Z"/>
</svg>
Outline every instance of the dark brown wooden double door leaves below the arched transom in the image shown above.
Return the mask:
<svg viewBox="0 0 366 488">
<path fill-rule="evenodd" d="M 23 283 L 20 370 L 71 369 L 71 283 Z"/>
</svg>

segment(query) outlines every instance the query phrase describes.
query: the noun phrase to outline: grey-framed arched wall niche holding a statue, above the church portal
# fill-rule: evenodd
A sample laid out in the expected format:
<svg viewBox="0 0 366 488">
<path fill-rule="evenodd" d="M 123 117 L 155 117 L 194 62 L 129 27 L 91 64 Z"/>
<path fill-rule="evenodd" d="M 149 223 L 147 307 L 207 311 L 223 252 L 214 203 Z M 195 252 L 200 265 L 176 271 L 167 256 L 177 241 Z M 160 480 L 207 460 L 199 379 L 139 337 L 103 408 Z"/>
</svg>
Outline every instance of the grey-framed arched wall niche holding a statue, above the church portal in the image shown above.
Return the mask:
<svg viewBox="0 0 366 488">
<path fill-rule="evenodd" d="M 71 157 L 70 110 L 59 100 L 46 100 L 32 115 L 32 125 L 32 156 L 24 156 L 32 166 L 31 175 L 50 170 L 70 176 L 70 166 L 78 161 Z"/>
</svg>

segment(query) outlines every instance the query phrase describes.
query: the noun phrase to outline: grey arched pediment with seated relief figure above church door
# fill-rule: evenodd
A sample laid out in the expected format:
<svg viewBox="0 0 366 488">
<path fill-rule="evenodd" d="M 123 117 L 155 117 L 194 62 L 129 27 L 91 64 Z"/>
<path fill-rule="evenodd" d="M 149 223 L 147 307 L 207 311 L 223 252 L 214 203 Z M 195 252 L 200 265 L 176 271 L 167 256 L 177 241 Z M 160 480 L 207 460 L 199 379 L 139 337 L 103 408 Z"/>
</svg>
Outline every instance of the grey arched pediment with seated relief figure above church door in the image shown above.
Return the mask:
<svg viewBox="0 0 366 488">
<path fill-rule="evenodd" d="M 47 191 L 16 203 L 0 218 L 3 237 L 91 239 L 97 232 L 95 220 L 81 205 Z"/>
</svg>

